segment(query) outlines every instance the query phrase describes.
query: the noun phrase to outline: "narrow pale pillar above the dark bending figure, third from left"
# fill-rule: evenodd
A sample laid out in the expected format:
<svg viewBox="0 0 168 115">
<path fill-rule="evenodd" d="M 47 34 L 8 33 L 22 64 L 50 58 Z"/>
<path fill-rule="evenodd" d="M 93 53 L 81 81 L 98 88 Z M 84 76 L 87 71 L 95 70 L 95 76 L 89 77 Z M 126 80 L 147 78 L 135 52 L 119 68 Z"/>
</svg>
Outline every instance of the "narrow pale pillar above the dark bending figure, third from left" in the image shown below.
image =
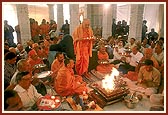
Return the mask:
<svg viewBox="0 0 168 115">
<path fill-rule="evenodd" d="M 60 32 L 60 29 L 63 24 L 64 24 L 63 4 L 57 4 L 57 33 Z"/>
</svg>

